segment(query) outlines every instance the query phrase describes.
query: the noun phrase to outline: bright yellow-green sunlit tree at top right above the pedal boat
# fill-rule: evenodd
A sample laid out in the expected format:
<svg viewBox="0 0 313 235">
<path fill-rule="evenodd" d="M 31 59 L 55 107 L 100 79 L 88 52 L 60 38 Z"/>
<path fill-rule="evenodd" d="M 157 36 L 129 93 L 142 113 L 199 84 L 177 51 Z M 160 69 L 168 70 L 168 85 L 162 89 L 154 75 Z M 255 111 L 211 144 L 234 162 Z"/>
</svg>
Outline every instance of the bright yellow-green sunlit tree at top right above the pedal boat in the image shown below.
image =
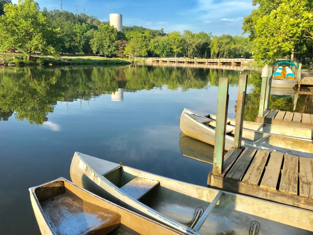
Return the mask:
<svg viewBox="0 0 313 235">
<path fill-rule="evenodd" d="M 291 54 L 293 60 L 294 53 L 304 54 L 313 42 L 312 5 L 312 0 L 282 0 L 269 15 L 260 18 L 254 27 L 254 58 L 274 61 Z"/>
</svg>

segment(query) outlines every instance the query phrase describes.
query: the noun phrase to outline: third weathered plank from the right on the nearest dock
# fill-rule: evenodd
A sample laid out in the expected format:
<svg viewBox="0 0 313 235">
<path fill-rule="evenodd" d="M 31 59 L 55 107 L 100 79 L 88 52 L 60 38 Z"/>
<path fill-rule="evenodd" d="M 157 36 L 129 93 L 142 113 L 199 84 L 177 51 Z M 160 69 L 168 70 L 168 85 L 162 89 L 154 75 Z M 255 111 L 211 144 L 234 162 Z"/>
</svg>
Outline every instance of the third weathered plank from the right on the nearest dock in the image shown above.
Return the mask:
<svg viewBox="0 0 313 235">
<path fill-rule="evenodd" d="M 284 154 L 279 152 L 272 152 L 270 154 L 269 162 L 266 166 L 263 179 L 260 184 L 261 188 L 276 190 L 283 156 Z"/>
</svg>

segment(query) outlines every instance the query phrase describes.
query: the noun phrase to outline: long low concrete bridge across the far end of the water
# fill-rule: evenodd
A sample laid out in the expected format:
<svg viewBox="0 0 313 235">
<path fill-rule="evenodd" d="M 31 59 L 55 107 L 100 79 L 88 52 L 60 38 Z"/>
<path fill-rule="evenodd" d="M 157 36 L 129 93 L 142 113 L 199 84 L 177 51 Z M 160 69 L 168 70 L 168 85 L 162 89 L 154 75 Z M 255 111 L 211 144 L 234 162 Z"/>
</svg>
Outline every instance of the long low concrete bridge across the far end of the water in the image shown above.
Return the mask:
<svg viewBox="0 0 313 235">
<path fill-rule="evenodd" d="M 247 64 L 253 59 L 181 59 L 181 58 L 151 58 L 154 62 L 169 63 L 194 63 L 194 64 Z"/>
</svg>

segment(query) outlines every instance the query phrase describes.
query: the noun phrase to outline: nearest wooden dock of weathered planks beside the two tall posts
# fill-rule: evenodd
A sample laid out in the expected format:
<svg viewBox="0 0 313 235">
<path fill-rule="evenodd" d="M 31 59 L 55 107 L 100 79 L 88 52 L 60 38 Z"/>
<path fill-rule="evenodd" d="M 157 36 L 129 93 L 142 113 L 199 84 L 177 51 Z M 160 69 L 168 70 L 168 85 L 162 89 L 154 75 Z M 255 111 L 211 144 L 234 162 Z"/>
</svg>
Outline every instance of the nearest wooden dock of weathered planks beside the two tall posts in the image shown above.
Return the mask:
<svg viewBox="0 0 313 235">
<path fill-rule="evenodd" d="M 208 175 L 208 187 L 313 211 L 313 159 L 254 148 L 232 148 L 222 174 Z"/>
</svg>

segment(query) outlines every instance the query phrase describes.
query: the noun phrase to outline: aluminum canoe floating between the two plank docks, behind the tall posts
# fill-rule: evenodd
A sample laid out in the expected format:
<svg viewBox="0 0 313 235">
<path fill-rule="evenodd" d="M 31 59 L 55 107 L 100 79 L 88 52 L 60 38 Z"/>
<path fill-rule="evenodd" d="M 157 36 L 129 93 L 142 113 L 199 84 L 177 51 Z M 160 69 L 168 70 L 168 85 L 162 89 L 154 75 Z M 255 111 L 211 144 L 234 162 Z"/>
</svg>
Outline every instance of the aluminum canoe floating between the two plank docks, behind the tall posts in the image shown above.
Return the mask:
<svg viewBox="0 0 313 235">
<path fill-rule="evenodd" d="M 225 150 L 233 147 L 235 122 L 227 119 Z M 184 109 L 180 118 L 181 131 L 207 144 L 215 144 L 216 116 Z M 242 146 L 313 157 L 312 129 L 278 126 L 265 123 L 243 124 Z"/>
</svg>

